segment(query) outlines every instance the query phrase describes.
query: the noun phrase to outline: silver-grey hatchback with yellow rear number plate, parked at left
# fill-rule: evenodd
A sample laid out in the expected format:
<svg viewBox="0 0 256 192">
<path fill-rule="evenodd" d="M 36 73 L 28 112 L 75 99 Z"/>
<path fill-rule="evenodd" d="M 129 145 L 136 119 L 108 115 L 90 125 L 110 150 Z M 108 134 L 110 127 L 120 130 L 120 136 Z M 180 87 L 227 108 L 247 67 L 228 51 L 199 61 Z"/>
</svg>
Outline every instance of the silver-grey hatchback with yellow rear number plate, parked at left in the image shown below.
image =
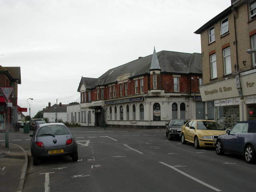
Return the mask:
<svg viewBox="0 0 256 192">
<path fill-rule="evenodd" d="M 38 159 L 52 156 L 70 156 L 72 161 L 78 160 L 76 140 L 63 123 L 39 124 L 30 137 L 33 165 L 38 164 Z"/>
</svg>

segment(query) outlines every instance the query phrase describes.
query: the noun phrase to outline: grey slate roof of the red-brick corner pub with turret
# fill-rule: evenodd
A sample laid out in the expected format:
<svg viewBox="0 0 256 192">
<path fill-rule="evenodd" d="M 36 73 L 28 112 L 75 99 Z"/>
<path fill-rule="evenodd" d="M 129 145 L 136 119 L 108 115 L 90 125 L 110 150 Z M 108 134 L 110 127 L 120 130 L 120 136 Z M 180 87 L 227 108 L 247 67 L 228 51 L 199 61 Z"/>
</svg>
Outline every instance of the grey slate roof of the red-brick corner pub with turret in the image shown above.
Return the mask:
<svg viewBox="0 0 256 192">
<path fill-rule="evenodd" d="M 170 74 L 202 74 L 202 56 L 200 53 L 182 53 L 173 51 L 160 51 L 156 53 L 161 73 Z M 129 78 L 135 78 L 150 74 L 152 56 L 139 58 L 121 66 L 112 68 L 102 74 L 99 78 L 82 77 L 78 92 L 82 83 L 86 89 L 92 89 L 96 86 L 112 84 L 117 81 L 119 76 L 129 74 Z"/>
</svg>

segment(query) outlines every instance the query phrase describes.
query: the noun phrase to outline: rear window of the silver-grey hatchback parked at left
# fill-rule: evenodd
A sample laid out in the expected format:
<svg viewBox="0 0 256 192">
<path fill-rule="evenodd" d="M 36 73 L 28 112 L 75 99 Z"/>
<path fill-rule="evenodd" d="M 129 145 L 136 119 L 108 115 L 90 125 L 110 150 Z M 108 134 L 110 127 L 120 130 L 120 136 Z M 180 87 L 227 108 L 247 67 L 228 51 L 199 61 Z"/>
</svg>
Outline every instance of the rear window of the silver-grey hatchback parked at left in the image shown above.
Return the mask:
<svg viewBox="0 0 256 192">
<path fill-rule="evenodd" d="M 38 130 L 37 136 L 47 136 L 47 135 L 65 135 L 70 134 L 68 129 L 62 125 L 49 125 L 44 126 Z"/>
</svg>

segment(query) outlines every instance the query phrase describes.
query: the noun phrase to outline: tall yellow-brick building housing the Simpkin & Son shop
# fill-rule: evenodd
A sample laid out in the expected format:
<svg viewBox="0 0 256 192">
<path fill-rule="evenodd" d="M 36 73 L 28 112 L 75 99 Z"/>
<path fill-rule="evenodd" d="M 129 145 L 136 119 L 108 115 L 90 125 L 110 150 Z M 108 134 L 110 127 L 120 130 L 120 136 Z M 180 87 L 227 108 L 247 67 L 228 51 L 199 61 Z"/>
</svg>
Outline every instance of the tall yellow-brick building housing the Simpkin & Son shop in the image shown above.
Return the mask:
<svg viewBox="0 0 256 192">
<path fill-rule="evenodd" d="M 256 48 L 256 0 L 231 0 L 195 33 L 201 35 L 205 118 L 214 115 L 225 128 L 256 120 L 256 53 L 247 52 Z"/>
</svg>

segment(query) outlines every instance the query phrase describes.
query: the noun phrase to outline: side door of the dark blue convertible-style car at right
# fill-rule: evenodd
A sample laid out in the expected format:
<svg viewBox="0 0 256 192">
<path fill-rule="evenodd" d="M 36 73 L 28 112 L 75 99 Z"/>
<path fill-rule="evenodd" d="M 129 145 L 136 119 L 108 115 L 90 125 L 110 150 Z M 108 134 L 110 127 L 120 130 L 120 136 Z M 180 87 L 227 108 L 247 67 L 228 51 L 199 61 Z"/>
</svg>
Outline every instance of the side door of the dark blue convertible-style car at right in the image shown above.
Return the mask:
<svg viewBox="0 0 256 192">
<path fill-rule="evenodd" d="M 238 154 L 243 154 L 243 143 L 244 136 L 246 134 L 243 133 L 244 128 L 246 128 L 246 123 L 237 123 L 231 130 L 230 133 L 225 136 L 224 140 L 224 149 L 225 151 L 230 151 Z M 247 125 L 248 129 L 248 125 Z"/>
</svg>

